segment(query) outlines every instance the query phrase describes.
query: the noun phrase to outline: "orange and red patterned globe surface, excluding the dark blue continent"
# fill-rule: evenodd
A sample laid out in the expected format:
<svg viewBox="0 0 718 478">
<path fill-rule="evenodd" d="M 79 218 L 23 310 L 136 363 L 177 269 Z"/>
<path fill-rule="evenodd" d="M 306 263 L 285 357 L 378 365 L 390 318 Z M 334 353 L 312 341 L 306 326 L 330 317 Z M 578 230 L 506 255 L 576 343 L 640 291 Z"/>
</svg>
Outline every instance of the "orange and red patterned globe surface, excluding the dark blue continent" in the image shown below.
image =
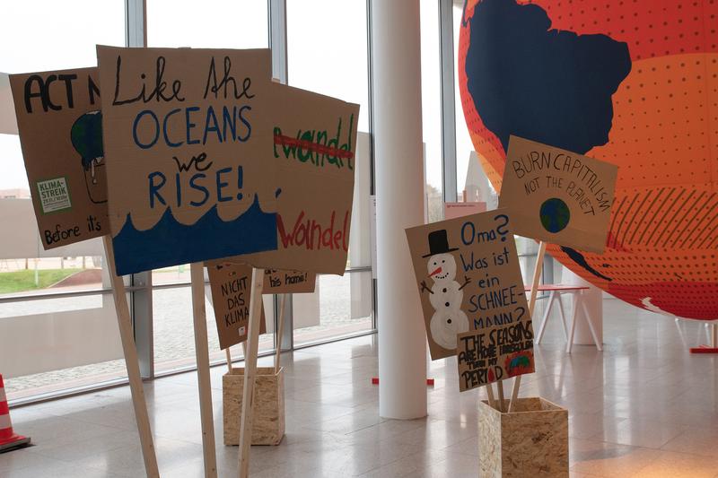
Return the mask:
<svg viewBox="0 0 718 478">
<path fill-rule="evenodd" d="M 473 13 L 469 1 L 467 16 Z M 626 41 L 633 67 L 614 94 L 609 143 L 588 155 L 616 163 L 606 252 L 585 253 L 610 281 L 556 246 L 549 252 L 638 307 L 718 319 L 718 3 L 533 0 L 553 28 Z M 459 80 L 469 134 L 497 189 L 505 152 L 466 87 L 469 26 L 460 30 Z"/>
</svg>

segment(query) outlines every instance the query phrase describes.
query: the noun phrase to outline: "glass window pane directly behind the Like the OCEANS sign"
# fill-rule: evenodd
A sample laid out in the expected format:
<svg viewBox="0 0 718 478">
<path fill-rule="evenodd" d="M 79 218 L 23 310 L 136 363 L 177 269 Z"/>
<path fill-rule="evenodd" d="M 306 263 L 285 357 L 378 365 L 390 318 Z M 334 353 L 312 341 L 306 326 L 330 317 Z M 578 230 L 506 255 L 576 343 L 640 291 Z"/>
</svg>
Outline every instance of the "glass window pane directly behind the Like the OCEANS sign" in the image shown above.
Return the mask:
<svg viewBox="0 0 718 478">
<path fill-rule="evenodd" d="M 266 0 L 148 0 L 147 44 L 150 47 L 267 48 Z M 195 336 L 189 265 L 156 269 L 153 285 L 185 284 L 153 291 L 155 370 L 194 366 Z M 210 361 L 224 360 L 219 348 L 215 314 L 209 285 L 206 286 L 207 335 Z M 267 330 L 259 338 L 259 352 L 274 349 L 274 315 L 271 296 L 265 296 Z M 241 347 L 232 347 L 232 358 L 241 357 Z"/>
</svg>

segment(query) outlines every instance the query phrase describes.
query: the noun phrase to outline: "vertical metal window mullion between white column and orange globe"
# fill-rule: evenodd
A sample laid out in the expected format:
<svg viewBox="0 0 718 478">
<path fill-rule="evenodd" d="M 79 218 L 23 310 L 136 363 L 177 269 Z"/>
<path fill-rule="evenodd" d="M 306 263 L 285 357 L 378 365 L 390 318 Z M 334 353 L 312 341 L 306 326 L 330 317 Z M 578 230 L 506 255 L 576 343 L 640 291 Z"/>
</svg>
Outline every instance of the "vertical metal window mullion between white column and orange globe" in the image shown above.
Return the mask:
<svg viewBox="0 0 718 478">
<path fill-rule="evenodd" d="M 442 89 L 442 173 L 443 200 L 457 198 L 456 174 L 456 96 L 454 91 L 453 1 L 439 0 L 439 40 L 441 44 Z"/>
</svg>

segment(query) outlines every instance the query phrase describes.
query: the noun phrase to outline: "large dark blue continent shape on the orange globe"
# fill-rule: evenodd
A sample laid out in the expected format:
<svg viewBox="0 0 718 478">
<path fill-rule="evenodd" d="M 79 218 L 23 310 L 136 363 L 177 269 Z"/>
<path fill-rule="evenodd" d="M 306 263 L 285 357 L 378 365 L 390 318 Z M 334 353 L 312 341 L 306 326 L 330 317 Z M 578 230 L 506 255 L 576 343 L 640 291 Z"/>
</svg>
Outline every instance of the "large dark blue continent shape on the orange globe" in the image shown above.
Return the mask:
<svg viewBox="0 0 718 478">
<path fill-rule="evenodd" d="M 514 0 L 483 0 L 469 22 L 468 91 L 504 151 L 509 135 L 582 154 L 609 141 L 626 43 L 550 30 L 546 11 Z"/>
</svg>

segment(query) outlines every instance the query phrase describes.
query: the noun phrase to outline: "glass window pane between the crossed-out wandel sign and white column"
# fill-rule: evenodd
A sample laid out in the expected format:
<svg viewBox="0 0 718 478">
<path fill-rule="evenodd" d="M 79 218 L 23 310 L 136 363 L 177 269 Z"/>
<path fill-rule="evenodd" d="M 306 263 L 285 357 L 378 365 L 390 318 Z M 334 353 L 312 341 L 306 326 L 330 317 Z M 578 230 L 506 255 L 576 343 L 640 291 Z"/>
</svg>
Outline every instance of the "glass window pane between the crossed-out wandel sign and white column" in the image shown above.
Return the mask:
<svg viewBox="0 0 718 478">
<path fill-rule="evenodd" d="M 286 9 L 289 84 L 361 106 L 347 257 L 354 272 L 320 275 L 313 294 L 293 295 L 301 344 L 372 329 L 372 274 L 356 270 L 372 265 L 368 32 L 365 0 L 287 0 Z"/>
</svg>

